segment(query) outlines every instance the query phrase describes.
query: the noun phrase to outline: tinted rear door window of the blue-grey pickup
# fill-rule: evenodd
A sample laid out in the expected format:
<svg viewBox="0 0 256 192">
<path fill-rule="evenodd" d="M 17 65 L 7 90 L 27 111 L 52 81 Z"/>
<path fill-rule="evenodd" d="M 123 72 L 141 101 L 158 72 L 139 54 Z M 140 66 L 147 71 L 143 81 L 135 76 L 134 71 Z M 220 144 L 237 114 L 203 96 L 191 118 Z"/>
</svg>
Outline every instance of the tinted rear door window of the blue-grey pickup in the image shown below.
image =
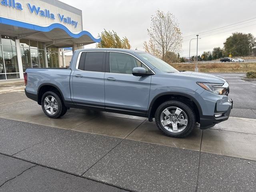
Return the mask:
<svg viewBox="0 0 256 192">
<path fill-rule="evenodd" d="M 78 69 L 84 71 L 103 72 L 105 52 L 83 52 Z"/>
</svg>

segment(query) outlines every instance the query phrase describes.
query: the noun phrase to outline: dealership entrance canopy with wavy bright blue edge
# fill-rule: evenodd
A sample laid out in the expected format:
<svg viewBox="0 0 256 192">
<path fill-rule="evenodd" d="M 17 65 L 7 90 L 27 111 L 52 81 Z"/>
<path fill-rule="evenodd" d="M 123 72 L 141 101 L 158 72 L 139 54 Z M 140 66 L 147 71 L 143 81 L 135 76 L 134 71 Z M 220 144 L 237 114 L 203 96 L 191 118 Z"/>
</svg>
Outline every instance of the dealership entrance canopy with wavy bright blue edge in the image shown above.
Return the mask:
<svg viewBox="0 0 256 192">
<path fill-rule="evenodd" d="M 79 46 L 100 42 L 101 38 L 94 38 L 88 31 L 72 33 L 66 26 L 54 23 L 49 26 L 38 26 L 26 22 L 0 17 L 0 32 L 20 38 L 29 38 L 54 44 L 58 47 Z"/>
</svg>

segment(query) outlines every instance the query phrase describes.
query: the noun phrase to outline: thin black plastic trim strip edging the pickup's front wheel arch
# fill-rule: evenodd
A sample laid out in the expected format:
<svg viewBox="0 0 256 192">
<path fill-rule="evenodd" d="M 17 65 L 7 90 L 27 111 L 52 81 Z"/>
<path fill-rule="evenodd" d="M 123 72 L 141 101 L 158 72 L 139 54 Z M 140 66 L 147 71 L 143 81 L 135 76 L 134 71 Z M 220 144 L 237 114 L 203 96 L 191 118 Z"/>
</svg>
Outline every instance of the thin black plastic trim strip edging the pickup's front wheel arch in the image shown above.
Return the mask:
<svg viewBox="0 0 256 192">
<path fill-rule="evenodd" d="M 201 108 L 200 104 L 198 103 L 198 101 L 193 96 L 186 94 L 186 93 L 181 93 L 181 92 L 163 92 L 163 93 L 157 94 L 150 102 L 148 112 L 146 114 L 146 116 L 148 116 L 149 120 L 151 118 L 151 110 L 152 110 L 152 106 L 153 106 L 154 102 L 156 101 L 157 98 L 159 98 L 160 96 L 164 96 L 164 95 L 179 95 L 179 96 L 184 96 L 184 97 L 191 99 L 196 104 L 198 111 L 199 111 L 199 115 L 202 116 L 202 114 L 203 114 L 202 108 Z"/>
</svg>

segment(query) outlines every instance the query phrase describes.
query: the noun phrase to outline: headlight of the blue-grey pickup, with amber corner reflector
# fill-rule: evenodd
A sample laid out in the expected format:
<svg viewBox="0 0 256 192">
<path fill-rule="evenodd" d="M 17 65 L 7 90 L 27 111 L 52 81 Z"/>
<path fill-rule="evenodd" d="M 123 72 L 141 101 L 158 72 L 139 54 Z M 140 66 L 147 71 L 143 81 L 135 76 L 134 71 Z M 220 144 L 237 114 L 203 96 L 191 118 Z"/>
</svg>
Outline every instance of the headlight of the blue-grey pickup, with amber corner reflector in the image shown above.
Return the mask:
<svg viewBox="0 0 256 192">
<path fill-rule="evenodd" d="M 228 95 L 229 87 L 228 83 L 205 83 L 205 82 L 196 82 L 200 87 L 204 88 L 207 91 L 210 91 L 217 95 Z"/>
</svg>

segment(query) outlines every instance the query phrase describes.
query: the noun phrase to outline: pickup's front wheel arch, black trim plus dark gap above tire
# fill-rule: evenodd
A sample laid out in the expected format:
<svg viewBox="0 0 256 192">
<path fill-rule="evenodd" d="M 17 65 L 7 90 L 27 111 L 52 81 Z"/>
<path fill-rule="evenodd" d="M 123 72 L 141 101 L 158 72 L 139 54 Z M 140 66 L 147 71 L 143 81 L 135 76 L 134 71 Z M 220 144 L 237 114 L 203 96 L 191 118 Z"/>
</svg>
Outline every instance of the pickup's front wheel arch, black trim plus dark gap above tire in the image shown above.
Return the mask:
<svg viewBox="0 0 256 192">
<path fill-rule="evenodd" d="M 193 96 L 180 92 L 164 92 L 156 95 L 150 102 L 148 108 L 147 117 L 149 121 L 152 121 L 152 118 L 154 118 L 158 106 L 167 100 L 180 100 L 181 102 L 185 101 L 184 103 L 189 104 L 195 110 L 196 120 L 197 122 L 200 122 L 202 108 L 198 101 Z"/>
</svg>

